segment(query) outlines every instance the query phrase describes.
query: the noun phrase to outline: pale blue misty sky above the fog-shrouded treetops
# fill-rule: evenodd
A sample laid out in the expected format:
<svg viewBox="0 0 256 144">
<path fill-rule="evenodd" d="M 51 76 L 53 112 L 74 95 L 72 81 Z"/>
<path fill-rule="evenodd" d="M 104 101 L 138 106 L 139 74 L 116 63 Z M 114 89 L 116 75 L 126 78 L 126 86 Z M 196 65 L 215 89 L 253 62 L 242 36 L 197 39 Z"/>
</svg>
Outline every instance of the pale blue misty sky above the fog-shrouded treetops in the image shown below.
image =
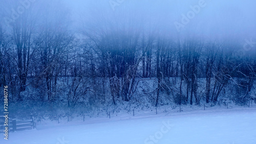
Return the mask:
<svg viewBox="0 0 256 144">
<path fill-rule="evenodd" d="M 2 11 L 9 13 L 15 6 L 1 0 Z M 4 1 L 4 2 L 3 2 Z M 14 1 L 14 3 L 18 1 Z M 30 1 L 29 1 L 30 2 Z M 254 1 L 210 1 L 210 0 L 181 0 L 181 1 L 31 1 L 35 9 L 41 6 L 48 9 L 69 11 L 71 29 L 81 32 L 84 23 L 116 23 L 122 20 L 134 22 L 129 27 L 140 27 L 162 31 L 164 35 L 197 35 L 203 37 L 237 37 L 241 39 L 255 38 L 256 10 Z M 49 3 L 49 4 L 47 4 Z M 55 4 L 54 4 L 55 3 Z M 199 6 L 201 4 L 201 6 Z M 11 5 L 11 6 L 10 6 Z M 22 5 L 22 4 L 19 4 Z M 25 3 L 26 5 L 26 3 Z M 17 11 L 17 10 L 16 10 Z M 2 13 L 2 21 L 7 14 Z M 41 12 L 43 13 L 43 12 Z M 37 17 L 40 19 L 40 17 Z M 101 22 L 99 22 L 101 21 Z M 104 23 L 106 22 L 106 23 Z M 127 21 L 126 21 L 127 22 Z M 136 25 L 135 26 L 135 22 Z M 124 24 L 125 22 L 123 22 Z M 126 23 L 127 24 L 127 23 Z M 84 30 L 84 29 L 83 29 Z"/>
</svg>

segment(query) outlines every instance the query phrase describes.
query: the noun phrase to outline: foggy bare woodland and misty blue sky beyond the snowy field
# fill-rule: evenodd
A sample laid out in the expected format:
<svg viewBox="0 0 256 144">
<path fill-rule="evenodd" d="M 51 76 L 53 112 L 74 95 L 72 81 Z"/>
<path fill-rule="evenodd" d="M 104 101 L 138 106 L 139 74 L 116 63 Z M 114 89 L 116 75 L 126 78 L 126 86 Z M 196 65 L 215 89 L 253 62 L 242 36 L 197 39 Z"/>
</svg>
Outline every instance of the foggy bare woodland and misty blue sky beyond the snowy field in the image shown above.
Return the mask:
<svg viewBox="0 0 256 144">
<path fill-rule="evenodd" d="M 178 30 L 199 1 L 113 2 L 0 1 L 0 86 L 13 115 L 255 102 L 249 5 L 205 1 Z"/>
</svg>

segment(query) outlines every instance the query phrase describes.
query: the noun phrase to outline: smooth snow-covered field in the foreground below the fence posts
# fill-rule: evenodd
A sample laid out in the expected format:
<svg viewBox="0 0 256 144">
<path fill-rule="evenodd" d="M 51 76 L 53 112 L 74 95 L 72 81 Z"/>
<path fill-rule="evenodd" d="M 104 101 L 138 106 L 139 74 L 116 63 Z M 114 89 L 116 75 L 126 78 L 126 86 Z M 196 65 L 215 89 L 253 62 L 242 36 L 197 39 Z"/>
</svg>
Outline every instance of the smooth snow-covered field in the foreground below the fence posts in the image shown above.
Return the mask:
<svg viewBox="0 0 256 144">
<path fill-rule="evenodd" d="M 38 124 L 37 130 L 9 133 L 0 143 L 256 143 L 256 108 L 183 107 L 86 117 L 69 123 Z"/>
</svg>

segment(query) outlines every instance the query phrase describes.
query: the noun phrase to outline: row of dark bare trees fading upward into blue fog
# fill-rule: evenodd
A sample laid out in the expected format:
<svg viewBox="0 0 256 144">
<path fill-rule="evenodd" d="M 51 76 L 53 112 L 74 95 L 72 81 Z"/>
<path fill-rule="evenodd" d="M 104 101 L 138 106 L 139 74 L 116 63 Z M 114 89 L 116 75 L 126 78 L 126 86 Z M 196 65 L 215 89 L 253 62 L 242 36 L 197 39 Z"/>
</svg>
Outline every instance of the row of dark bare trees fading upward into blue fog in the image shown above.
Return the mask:
<svg viewBox="0 0 256 144">
<path fill-rule="evenodd" d="M 28 101 L 30 87 L 39 92 L 29 95 L 37 101 L 75 106 L 90 92 L 95 103 L 115 105 L 143 94 L 138 85 L 147 80 L 157 83 L 155 106 L 163 91 L 173 91 L 177 104 L 216 103 L 230 83 L 237 102 L 255 99 L 255 51 L 244 38 L 177 34 L 158 15 L 111 7 L 84 14 L 77 31 L 65 5 L 47 2 L 2 2 L 0 85 L 9 86 L 10 101 Z M 176 89 L 169 78 L 179 79 Z"/>
</svg>

